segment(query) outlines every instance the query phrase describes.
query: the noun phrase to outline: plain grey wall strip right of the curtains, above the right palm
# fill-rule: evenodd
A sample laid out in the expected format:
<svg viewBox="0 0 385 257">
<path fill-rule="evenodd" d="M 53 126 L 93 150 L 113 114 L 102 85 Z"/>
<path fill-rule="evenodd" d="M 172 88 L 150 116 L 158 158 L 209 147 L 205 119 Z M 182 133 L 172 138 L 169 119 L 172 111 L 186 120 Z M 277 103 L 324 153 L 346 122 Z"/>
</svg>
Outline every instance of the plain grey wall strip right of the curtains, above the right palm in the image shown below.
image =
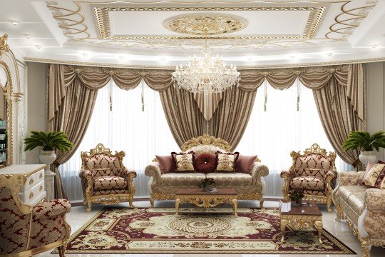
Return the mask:
<svg viewBox="0 0 385 257">
<path fill-rule="evenodd" d="M 366 72 L 366 130 L 385 131 L 385 62 L 365 64 Z M 377 158 L 385 161 L 381 149 Z"/>
</svg>

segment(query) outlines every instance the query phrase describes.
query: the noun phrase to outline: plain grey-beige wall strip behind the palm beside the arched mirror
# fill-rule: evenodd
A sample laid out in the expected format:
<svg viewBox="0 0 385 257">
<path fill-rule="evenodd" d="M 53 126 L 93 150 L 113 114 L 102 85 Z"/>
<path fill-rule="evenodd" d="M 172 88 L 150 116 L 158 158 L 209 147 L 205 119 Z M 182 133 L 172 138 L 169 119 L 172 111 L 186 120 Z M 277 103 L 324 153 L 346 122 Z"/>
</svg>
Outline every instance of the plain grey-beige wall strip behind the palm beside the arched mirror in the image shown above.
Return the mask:
<svg viewBox="0 0 385 257">
<path fill-rule="evenodd" d="M 46 64 L 27 63 L 27 136 L 46 130 Z M 40 163 L 39 149 L 26 152 L 26 163 Z"/>
</svg>

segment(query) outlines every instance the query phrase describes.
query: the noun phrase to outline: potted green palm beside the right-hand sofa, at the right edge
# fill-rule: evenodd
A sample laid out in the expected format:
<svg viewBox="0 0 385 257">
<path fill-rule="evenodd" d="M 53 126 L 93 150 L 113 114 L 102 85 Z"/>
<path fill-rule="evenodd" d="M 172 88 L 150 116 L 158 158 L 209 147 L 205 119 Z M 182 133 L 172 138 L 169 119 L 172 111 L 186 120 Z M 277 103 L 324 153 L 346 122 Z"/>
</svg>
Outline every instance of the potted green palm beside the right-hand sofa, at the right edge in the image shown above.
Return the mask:
<svg viewBox="0 0 385 257">
<path fill-rule="evenodd" d="M 359 149 L 359 161 L 366 166 L 369 162 L 376 161 L 373 149 L 379 151 L 379 148 L 385 148 L 385 131 L 377 131 L 372 135 L 366 131 L 351 131 L 342 148 L 344 151 Z"/>
</svg>

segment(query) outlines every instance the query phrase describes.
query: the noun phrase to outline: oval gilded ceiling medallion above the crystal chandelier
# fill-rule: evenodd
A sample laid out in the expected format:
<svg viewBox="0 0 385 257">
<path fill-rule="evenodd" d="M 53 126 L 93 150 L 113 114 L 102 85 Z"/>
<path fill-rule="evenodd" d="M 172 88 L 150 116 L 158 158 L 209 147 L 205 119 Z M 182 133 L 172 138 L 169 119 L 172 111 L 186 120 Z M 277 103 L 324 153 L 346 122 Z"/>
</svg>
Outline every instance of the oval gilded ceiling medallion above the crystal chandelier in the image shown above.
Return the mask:
<svg viewBox="0 0 385 257">
<path fill-rule="evenodd" d="M 229 34 L 245 29 L 247 20 L 229 14 L 183 14 L 166 19 L 163 26 L 180 34 L 207 36 Z"/>
</svg>

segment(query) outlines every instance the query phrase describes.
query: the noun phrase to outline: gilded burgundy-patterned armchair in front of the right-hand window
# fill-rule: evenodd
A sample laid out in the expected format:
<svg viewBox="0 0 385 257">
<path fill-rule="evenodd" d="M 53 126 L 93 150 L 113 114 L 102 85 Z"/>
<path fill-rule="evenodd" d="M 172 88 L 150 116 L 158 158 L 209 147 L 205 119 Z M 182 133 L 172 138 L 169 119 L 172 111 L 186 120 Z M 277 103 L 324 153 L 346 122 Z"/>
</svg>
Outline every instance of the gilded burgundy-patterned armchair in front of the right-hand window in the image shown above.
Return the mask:
<svg viewBox="0 0 385 257">
<path fill-rule="evenodd" d="M 293 189 L 301 189 L 304 199 L 326 203 L 327 211 L 331 212 L 332 187 L 337 177 L 334 163 L 336 153 L 326 153 L 325 149 L 314 143 L 303 154 L 300 151 L 292 151 L 290 156 L 293 160 L 292 166 L 289 170 L 281 172 L 281 178 L 284 178 L 284 198 L 288 199 Z"/>
</svg>

